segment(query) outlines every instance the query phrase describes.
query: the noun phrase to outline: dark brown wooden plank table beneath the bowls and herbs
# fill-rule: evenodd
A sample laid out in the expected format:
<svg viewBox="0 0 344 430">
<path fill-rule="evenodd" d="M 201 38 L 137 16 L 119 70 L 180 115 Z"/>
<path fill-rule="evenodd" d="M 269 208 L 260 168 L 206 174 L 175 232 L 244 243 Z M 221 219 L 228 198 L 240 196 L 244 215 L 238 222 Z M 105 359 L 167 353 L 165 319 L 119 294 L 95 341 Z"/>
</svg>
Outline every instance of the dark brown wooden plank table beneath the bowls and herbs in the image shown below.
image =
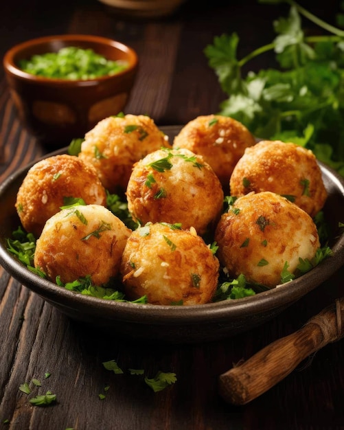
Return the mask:
<svg viewBox="0 0 344 430">
<path fill-rule="evenodd" d="M 302 2 L 301 2 L 302 3 Z M 310 7 L 334 21 L 339 1 Z M 225 99 L 203 49 L 214 36 L 238 32 L 242 54 L 273 38 L 273 19 L 284 5 L 255 1 L 190 0 L 165 19 L 130 20 L 97 0 L 12 0 L 0 5 L 0 54 L 15 43 L 46 34 L 90 33 L 128 43 L 140 69 L 126 113 L 146 113 L 159 126 L 185 124 L 216 113 Z M 255 67 L 273 64 L 266 55 Z M 0 181 L 49 148 L 19 124 L 0 82 Z M 1 204 L 1 202 L 0 202 Z M 344 344 L 331 343 L 303 361 L 268 392 L 245 406 L 225 403 L 218 376 L 275 339 L 301 328 L 344 293 L 344 271 L 272 321 L 224 341 L 195 345 L 137 344 L 109 337 L 71 321 L 0 267 L 0 429 L 11 430 L 231 430 L 344 429 Z M 128 374 L 104 369 L 115 360 L 154 376 L 176 373 L 177 381 L 154 393 Z M 49 372 L 49 378 L 45 373 Z M 19 386 L 36 378 L 57 403 L 30 405 Z M 107 392 L 104 387 L 108 386 Z M 100 400 L 99 394 L 106 394 Z"/>
</svg>

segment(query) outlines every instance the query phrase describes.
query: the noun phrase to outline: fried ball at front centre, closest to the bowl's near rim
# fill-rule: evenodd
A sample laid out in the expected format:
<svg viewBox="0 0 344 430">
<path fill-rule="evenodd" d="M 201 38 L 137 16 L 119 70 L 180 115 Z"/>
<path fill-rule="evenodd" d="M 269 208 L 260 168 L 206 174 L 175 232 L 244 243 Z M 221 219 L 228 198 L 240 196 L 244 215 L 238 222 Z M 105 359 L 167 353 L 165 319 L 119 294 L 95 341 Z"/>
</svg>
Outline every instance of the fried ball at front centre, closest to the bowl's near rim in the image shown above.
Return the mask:
<svg viewBox="0 0 344 430">
<path fill-rule="evenodd" d="M 218 283 L 218 259 L 196 231 L 148 223 L 133 231 L 122 256 L 124 291 L 150 304 L 204 304 Z"/>
</svg>

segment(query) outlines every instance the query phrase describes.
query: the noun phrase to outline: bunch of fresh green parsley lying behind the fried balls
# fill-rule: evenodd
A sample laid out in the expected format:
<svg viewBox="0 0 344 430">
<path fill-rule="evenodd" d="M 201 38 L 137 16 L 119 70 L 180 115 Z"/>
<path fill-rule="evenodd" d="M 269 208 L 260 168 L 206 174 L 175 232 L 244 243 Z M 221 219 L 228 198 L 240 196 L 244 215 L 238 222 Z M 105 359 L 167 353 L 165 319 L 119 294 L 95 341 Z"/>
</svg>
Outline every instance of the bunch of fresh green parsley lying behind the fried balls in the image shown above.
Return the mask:
<svg viewBox="0 0 344 430">
<path fill-rule="evenodd" d="M 325 23 L 296 1 L 286 18 L 274 22 L 271 43 L 238 58 L 238 34 L 216 36 L 204 49 L 209 67 L 229 98 L 220 114 L 242 122 L 253 135 L 310 148 L 316 157 L 344 175 L 344 31 Z M 282 0 L 260 0 L 282 3 Z M 327 34 L 306 36 L 301 16 Z M 344 24 L 343 15 L 339 24 Z M 274 51 L 278 69 L 249 71 L 242 67 Z"/>
</svg>

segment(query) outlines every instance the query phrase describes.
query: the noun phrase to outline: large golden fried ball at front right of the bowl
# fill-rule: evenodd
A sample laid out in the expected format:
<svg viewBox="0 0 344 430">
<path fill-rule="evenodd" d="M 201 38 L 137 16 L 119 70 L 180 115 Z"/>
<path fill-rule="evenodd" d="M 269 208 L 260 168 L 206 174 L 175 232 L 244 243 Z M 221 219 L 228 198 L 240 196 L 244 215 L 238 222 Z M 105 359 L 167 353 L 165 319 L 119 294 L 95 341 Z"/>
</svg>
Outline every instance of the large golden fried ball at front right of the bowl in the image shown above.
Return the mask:
<svg viewBox="0 0 344 430">
<path fill-rule="evenodd" d="M 229 275 L 273 288 L 283 269 L 295 273 L 299 258 L 319 248 L 317 227 L 295 203 L 273 192 L 239 197 L 216 227 L 217 256 Z"/>
</svg>

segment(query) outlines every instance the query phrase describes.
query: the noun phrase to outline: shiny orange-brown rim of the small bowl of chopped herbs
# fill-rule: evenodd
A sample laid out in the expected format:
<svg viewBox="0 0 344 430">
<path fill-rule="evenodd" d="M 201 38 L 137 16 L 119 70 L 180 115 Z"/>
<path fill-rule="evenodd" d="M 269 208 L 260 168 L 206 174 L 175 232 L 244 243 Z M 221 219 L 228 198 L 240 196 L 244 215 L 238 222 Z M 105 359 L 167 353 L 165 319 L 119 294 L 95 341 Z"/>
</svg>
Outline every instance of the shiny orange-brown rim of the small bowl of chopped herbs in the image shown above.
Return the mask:
<svg viewBox="0 0 344 430">
<path fill-rule="evenodd" d="M 73 42 L 76 43 L 79 42 L 92 42 L 92 43 L 98 43 L 101 45 L 108 45 L 111 47 L 114 47 L 118 49 L 119 51 L 122 51 L 128 55 L 128 67 L 122 71 L 119 71 L 113 75 L 106 75 L 106 76 L 98 76 L 96 78 L 92 79 L 62 79 L 62 78 L 46 78 L 45 76 L 36 76 L 32 73 L 27 73 L 20 69 L 16 63 L 14 62 L 14 57 L 21 52 L 22 49 L 26 49 L 30 46 L 35 45 L 42 45 L 44 43 L 49 43 L 53 41 L 64 41 L 64 42 Z M 3 68 L 5 69 L 5 72 L 16 76 L 17 78 L 21 78 L 23 80 L 29 80 L 30 82 L 39 82 L 39 83 L 50 83 L 50 84 L 63 84 L 66 85 L 75 85 L 75 84 L 93 84 L 97 81 L 105 81 L 108 79 L 113 79 L 114 77 L 119 77 L 122 75 L 126 75 L 128 72 L 131 72 L 137 68 L 137 65 L 139 63 L 139 57 L 137 55 L 137 52 L 135 52 L 135 49 L 130 47 L 129 45 L 126 45 L 125 43 L 115 41 L 111 38 L 106 38 L 103 36 L 94 36 L 92 34 L 53 34 L 50 36 L 42 36 L 38 38 L 33 38 L 28 41 L 24 41 L 21 43 L 18 43 L 8 49 L 7 52 L 5 52 L 3 56 Z"/>
</svg>

